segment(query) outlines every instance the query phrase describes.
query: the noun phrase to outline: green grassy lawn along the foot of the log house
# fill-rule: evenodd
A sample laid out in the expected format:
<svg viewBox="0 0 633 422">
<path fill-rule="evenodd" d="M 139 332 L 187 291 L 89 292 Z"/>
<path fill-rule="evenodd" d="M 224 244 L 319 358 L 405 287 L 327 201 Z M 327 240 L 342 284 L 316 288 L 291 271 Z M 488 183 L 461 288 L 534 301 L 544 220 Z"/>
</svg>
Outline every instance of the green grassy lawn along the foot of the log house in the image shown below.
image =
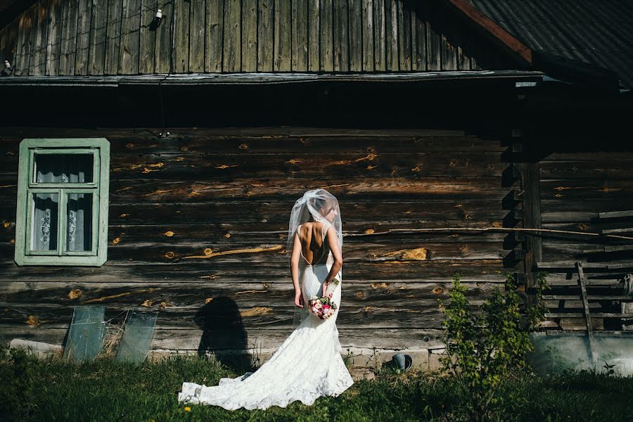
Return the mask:
<svg viewBox="0 0 633 422">
<path fill-rule="evenodd" d="M 0 359 L 0 420 L 27 421 L 454 421 L 460 393 L 451 378 L 428 373 L 377 373 L 337 398 L 286 409 L 226 411 L 177 402 L 183 381 L 215 385 L 236 376 L 198 357 L 172 357 L 141 366 L 98 359 L 68 364 L 57 358 L 8 354 Z M 629 421 L 633 378 L 577 373 L 507 380 L 499 421 Z"/>
</svg>

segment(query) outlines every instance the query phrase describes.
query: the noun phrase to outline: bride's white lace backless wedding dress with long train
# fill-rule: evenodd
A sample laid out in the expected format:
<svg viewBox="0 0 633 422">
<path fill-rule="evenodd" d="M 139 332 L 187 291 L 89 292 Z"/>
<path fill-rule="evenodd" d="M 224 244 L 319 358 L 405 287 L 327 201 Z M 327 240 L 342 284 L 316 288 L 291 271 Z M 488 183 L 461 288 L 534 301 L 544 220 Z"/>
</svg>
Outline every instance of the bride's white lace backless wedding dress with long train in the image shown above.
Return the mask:
<svg viewBox="0 0 633 422">
<path fill-rule="evenodd" d="M 323 238 L 328 226 L 324 225 Z M 333 258 L 326 245 L 321 260 L 299 264 L 300 283 L 305 303 L 310 296 L 321 296 L 321 284 L 332 267 Z M 324 259 L 327 258 L 327 259 Z M 337 276 L 340 279 L 340 272 Z M 341 284 L 332 299 L 340 305 Z M 338 396 L 352 385 L 352 377 L 340 356 L 335 321 L 338 311 L 321 320 L 302 312 L 302 322 L 274 355 L 250 376 L 222 378 L 219 385 L 207 387 L 183 383 L 178 394 L 181 402 L 212 404 L 224 409 L 267 409 L 286 407 L 299 400 L 313 404 L 321 396 Z"/>
</svg>

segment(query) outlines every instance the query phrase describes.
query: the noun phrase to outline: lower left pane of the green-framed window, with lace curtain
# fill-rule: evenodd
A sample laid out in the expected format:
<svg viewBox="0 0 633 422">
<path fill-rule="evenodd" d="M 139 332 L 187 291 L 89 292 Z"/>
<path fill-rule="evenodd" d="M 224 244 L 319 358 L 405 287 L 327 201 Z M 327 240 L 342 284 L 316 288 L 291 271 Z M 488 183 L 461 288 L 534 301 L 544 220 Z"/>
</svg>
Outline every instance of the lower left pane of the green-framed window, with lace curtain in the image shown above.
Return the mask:
<svg viewBox="0 0 633 422">
<path fill-rule="evenodd" d="M 57 193 L 34 193 L 31 215 L 31 250 L 57 249 Z"/>
</svg>

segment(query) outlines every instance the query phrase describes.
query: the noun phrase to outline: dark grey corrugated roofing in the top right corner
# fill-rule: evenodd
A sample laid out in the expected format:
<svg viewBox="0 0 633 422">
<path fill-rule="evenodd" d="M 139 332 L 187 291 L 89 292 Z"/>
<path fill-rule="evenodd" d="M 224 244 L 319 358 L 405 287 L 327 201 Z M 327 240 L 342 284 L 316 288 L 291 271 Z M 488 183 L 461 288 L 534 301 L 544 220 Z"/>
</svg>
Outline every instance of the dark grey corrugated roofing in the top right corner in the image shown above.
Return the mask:
<svg viewBox="0 0 633 422">
<path fill-rule="evenodd" d="M 633 0 L 470 0 L 529 46 L 618 72 L 633 88 Z"/>
</svg>

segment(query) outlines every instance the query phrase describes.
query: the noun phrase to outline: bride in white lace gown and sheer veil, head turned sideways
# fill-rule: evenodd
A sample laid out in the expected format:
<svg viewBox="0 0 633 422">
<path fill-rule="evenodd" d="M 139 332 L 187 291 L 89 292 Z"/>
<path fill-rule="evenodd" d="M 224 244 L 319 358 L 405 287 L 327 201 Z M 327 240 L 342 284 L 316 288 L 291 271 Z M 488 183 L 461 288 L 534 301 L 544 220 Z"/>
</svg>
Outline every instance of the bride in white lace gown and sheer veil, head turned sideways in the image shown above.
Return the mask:
<svg viewBox="0 0 633 422">
<path fill-rule="evenodd" d="M 255 373 L 222 378 L 219 385 L 210 387 L 183 383 L 179 401 L 229 410 L 267 409 L 286 407 L 296 400 L 310 405 L 321 396 L 338 396 L 352 385 L 340 357 L 335 325 L 338 307 L 328 319 L 318 319 L 305 310 L 309 298 L 326 295 L 326 290 L 340 305 L 341 283 L 337 281 L 343 265 L 342 229 L 338 200 L 328 191 L 307 191 L 295 202 L 286 250 L 291 251 L 299 326 Z"/>
</svg>

